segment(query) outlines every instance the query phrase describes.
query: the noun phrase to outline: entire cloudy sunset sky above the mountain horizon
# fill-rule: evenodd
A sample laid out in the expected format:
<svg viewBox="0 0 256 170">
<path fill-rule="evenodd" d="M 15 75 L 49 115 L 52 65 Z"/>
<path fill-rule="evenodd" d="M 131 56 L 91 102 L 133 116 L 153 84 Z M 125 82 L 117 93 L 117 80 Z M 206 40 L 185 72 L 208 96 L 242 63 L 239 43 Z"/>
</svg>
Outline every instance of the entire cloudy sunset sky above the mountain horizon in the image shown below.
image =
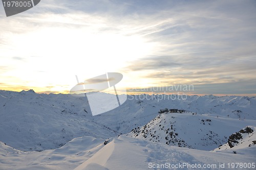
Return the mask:
<svg viewBox="0 0 256 170">
<path fill-rule="evenodd" d="M 0 89 L 69 93 L 76 76 L 119 72 L 128 93 L 256 96 L 255 46 L 256 1 L 44 0 L 9 17 L 0 5 Z"/>
</svg>

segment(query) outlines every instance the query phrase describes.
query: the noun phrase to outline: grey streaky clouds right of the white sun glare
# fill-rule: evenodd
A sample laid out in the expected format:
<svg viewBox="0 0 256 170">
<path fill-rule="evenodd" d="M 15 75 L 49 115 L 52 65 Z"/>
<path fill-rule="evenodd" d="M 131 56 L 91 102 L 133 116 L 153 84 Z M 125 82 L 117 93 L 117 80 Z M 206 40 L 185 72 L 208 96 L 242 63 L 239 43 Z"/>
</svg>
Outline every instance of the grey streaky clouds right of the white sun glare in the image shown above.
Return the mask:
<svg viewBox="0 0 256 170">
<path fill-rule="evenodd" d="M 219 83 L 223 84 L 222 91 L 228 91 L 225 83 L 251 84 L 256 78 L 256 18 L 251 13 L 255 13 L 255 5 L 236 2 L 231 7 L 230 2 L 220 1 L 188 4 L 165 12 L 172 19 L 147 35 L 158 42 L 154 51 L 158 57 L 133 61 L 123 71 L 136 71 L 141 79 L 156 86 L 193 83 L 207 87 Z"/>
</svg>

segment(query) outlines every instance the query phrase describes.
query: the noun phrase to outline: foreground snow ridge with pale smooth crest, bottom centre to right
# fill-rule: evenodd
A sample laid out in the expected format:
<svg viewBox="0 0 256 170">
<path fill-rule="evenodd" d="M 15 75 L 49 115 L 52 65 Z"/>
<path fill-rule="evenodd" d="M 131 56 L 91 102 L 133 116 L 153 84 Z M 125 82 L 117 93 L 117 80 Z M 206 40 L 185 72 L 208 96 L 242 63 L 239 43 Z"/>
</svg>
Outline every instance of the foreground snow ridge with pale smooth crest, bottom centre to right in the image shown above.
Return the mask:
<svg viewBox="0 0 256 170">
<path fill-rule="evenodd" d="M 256 151 L 255 146 L 251 147 L 251 149 L 254 152 Z M 109 144 L 106 144 L 104 148 L 74 170 L 148 168 L 229 169 L 227 168 L 227 164 L 230 162 L 252 163 L 255 162 L 255 160 L 255 154 L 239 155 L 238 157 L 236 154 L 232 153 L 214 153 L 188 148 L 179 148 L 162 143 L 131 138 L 128 136 L 120 136 L 118 139 L 114 139 Z M 225 168 L 220 168 L 220 163 L 224 163 Z M 157 166 L 160 166 L 161 164 L 167 165 L 167 168 L 157 168 Z M 179 166 L 180 164 L 184 166 Z M 206 165 L 206 168 L 202 168 L 204 164 Z M 176 165 L 178 165 L 178 168 L 172 168 L 172 166 Z M 200 166 L 201 168 L 199 168 Z"/>
</svg>

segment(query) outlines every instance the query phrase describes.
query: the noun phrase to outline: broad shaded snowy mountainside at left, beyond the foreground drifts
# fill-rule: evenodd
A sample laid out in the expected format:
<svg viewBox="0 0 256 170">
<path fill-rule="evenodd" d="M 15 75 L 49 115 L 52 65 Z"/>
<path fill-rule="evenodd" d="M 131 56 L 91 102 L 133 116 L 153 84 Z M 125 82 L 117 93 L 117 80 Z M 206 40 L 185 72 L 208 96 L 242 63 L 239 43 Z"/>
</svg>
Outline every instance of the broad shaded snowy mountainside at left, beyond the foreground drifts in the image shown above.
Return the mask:
<svg viewBox="0 0 256 170">
<path fill-rule="evenodd" d="M 1 97 L 1 96 L 0 96 Z M 87 119 L 83 101 L 33 91 L 11 93 L 0 114 L 0 141 L 22 151 L 59 148 L 75 137 L 108 138 L 118 133 Z M 80 110 L 79 110 L 80 109 Z"/>
</svg>

